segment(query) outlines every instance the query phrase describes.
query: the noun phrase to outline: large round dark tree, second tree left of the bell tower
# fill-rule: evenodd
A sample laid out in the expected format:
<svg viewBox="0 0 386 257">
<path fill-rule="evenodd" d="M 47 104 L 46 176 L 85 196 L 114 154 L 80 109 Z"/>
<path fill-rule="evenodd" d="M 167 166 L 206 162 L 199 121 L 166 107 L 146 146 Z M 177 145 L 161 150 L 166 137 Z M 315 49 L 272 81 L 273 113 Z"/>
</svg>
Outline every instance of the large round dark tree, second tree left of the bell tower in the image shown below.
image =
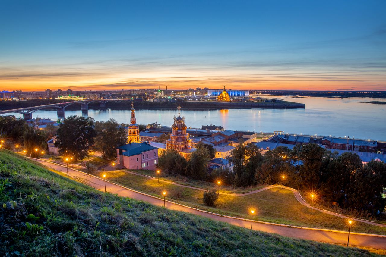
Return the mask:
<svg viewBox="0 0 386 257">
<path fill-rule="evenodd" d="M 55 145 L 59 153 L 73 156 L 74 161 L 88 156 L 88 150 L 94 144 L 94 119 L 91 117 L 70 116 L 58 126 L 58 137 Z"/>
</svg>

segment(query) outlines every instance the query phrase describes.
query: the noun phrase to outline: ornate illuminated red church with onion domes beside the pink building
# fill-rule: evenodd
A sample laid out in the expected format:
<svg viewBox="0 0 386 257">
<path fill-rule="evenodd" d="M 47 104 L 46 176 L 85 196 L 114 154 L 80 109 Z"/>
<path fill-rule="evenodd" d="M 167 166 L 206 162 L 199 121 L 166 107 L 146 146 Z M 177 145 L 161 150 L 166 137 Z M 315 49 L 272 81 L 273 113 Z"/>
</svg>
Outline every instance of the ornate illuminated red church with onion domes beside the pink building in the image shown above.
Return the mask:
<svg viewBox="0 0 386 257">
<path fill-rule="evenodd" d="M 166 150 L 175 150 L 183 157 L 188 158 L 195 148 L 191 147 L 192 140 L 186 132 L 185 117 L 180 116 L 181 107 L 178 105 L 178 117 L 174 116 L 174 123 L 172 125 L 172 134 L 170 139 L 166 140 Z"/>
</svg>

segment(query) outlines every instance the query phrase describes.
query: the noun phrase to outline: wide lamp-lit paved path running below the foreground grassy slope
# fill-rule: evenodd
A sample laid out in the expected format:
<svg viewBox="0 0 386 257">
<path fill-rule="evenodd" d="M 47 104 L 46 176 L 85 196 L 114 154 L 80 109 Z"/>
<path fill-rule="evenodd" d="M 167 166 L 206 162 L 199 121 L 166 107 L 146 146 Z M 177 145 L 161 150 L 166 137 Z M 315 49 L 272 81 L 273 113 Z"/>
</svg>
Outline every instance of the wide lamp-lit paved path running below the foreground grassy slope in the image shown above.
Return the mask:
<svg viewBox="0 0 386 257">
<path fill-rule="evenodd" d="M 31 159 L 31 160 L 35 160 L 35 159 Z M 55 169 L 57 171 L 63 172 L 64 173 L 63 176 L 67 175 L 67 168 L 65 166 L 63 167 L 59 164 L 42 161 L 40 159 L 39 159 L 39 162 L 51 169 Z M 70 167 L 68 167 L 68 174 L 71 178 L 74 178 L 77 181 L 80 181 L 81 183 L 87 184 L 100 191 L 105 191 L 105 181 L 103 181 L 103 179 L 101 178 L 97 178 L 95 176 L 92 176 L 90 174 L 87 174 L 81 171 L 77 171 L 76 169 L 71 169 Z M 113 194 L 118 194 L 119 196 L 125 196 L 136 200 L 146 201 L 153 205 L 158 205 L 158 206 L 164 205 L 163 199 L 150 196 L 148 194 L 141 193 L 138 191 L 134 191 L 132 189 L 125 188 L 123 186 L 119 186 L 107 180 L 106 180 L 106 191 Z M 251 220 L 235 218 L 230 216 L 216 215 L 215 213 L 201 211 L 198 209 L 190 208 L 188 206 L 179 205 L 171 201 L 166 201 L 165 207 L 170 210 L 185 211 L 188 213 L 193 213 L 195 215 L 211 218 L 212 220 L 227 222 L 239 227 L 251 228 Z M 293 226 L 291 227 L 288 225 L 267 223 L 267 222 L 261 222 L 261 221 L 254 221 L 253 229 L 269 232 L 269 233 L 276 233 L 286 237 L 315 240 L 318 242 L 326 242 L 326 243 L 337 243 L 342 245 L 347 244 L 347 232 L 336 231 L 336 230 L 327 230 L 327 229 L 318 229 L 318 228 L 301 228 L 301 227 L 293 227 Z M 350 233 L 350 245 L 386 250 L 386 236 L 369 235 L 369 234 L 363 234 L 363 233 Z"/>
</svg>

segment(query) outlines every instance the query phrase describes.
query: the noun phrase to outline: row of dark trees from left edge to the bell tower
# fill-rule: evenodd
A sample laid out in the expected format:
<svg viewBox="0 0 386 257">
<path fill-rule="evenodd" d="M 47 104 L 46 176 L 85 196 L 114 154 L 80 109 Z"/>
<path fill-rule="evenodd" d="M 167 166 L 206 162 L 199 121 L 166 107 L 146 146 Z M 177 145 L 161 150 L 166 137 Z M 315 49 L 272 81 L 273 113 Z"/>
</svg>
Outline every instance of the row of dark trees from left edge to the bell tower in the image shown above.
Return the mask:
<svg viewBox="0 0 386 257">
<path fill-rule="evenodd" d="M 94 122 L 91 117 L 69 116 L 58 127 L 49 124 L 44 130 L 37 129 L 38 121 L 36 118 L 36 124 L 29 126 L 23 119 L 0 116 L 2 147 L 14 149 L 19 145 L 28 156 L 37 157 L 41 151 L 46 151 L 47 141 L 57 135 L 56 145 L 63 156 L 71 156 L 76 161 L 94 149 L 112 161 L 117 155 L 116 148 L 127 142 L 127 132 L 114 119 Z"/>
</svg>

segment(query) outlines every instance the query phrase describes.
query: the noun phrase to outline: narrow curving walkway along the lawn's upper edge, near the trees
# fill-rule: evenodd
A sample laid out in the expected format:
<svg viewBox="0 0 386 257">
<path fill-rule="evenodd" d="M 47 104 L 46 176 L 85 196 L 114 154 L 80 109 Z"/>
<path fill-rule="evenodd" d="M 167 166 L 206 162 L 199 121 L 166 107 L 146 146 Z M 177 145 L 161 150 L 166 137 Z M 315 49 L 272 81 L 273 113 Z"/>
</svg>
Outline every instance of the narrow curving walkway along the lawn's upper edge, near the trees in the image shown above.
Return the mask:
<svg viewBox="0 0 386 257">
<path fill-rule="evenodd" d="M 137 176 L 142 176 L 142 177 L 145 177 L 145 178 L 157 179 L 157 178 L 154 178 L 154 177 L 152 177 L 152 176 L 140 174 L 140 173 L 137 173 L 137 172 L 126 171 L 126 170 L 121 170 L 121 171 L 125 171 L 125 172 L 127 172 L 127 173 L 134 174 L 134 175 L 137 175 Z M 183 188 L 191 188 L 191 189 L 196 189 L 196 190 L 206 191 L 206 189 L 203 189 L 203 188 L 197 188 L 197 187 L 194 187 L 194 186 L 186 186 L 186 185 L 182 185 L 182 184 L 178 184 L 178 183 L 171 182 L 171 181 L 166 181 L 166 180 L 162 180 L 162 181 L 165 182 L 165 183 L 169 183 L 169 184 L 181 186 L 181 187 L 183 187 Z M 271 186 L 266 186 L 266 187 L 264 187 L 264 188 L 256 189 L 256 190 L 249 191 L 249 192 L 247 192 L 247 193 L 242 193 L 242 194 L 223 193 L 223 192 L 220 192 L 220 194 L 232 195 L 232 196 L 246 196 L 246 195 L 250 195 L 250 194 L 256 194 L 256 193 L 259 193 L 259 192 L 261 192 L 261 191 L 265 191 L 265 190 L 267 190 L 267 189 L 274 188 L 274 187 L 282 187 L 282 186 L 279 186 L 279 185 L 271 185 Z M 312 208 L 312 206 L 311 206 L 310 204 L 308 204 L 308 203 L 303 199 L 303 197 L 301 196 L 301 194 L 299 193 L 298 190 L 296 190 L 295 188 L 289 188 L 289 187 L 287 187 L 287 186 L 284 186 L 284 188 L 286 188 L 286 189 L 288 189 L 288 190 L 291 190 L 291 191 L 293 192 L 293 194 L 294 194 L 296 200 L 298 200 L 299 203 L 301 203 L 302 205 L 306 206 L 307 208 L 310 208 L 310 209 Z M 374 226 L 386 228 L 386 224 L 380 224 L 380 223 L 376 223 L 376 222 L 370 221 L 370 220 L 362 220 L 362 219 L 359 219 L 359 218 L 352 218 L 352 217 L 349 217 L 349 216 L 345 216 L 345 215 L 343 215 L 343 214 L 335 213 L 335 212 L 328 211 L 328 210 L 323 210 L 323 209 L 320 209 L 320 208 L 317 208 L 317 207 L 313 207 L 313 210 L 320 211 L 320 212 L 322 212 L 322 213 L 327 213 L 327 214 L 330 214 L 330 215 L 334 215 L 334 216 L 337 216 L 337 217 L 340 217 L 340 218 L 351 219 L 351 220 L 355 220 L 355 221 L 358 221 L 358 222 L 367 223 L 367 224 L 370 224 L 370 225 L 374 225 Z"/>
</svg>

